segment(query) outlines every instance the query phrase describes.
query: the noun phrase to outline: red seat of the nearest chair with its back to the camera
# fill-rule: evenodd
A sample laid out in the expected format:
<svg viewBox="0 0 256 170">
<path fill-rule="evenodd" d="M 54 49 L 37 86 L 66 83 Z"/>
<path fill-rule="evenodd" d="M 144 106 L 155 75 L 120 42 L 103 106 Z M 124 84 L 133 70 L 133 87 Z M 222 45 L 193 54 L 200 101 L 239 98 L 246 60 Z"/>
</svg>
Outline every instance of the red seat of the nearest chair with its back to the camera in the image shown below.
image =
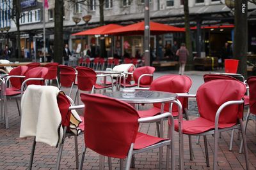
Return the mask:
<svg viewBox="0 0 256 170">
<path fill-rule="evenodd" d="M 160 141 L 164 141 L 168 139 L 164 138 L 157 138 L 155 136 L 149 136 L 147 134 L 143 134 L 141 132 L 138 132 L 135 143 L 134 143 L 134 150 L 140 150 L 142 148 L 146 148 L 147 146 L 154 145 L 156 143 L 159 143 Z"/>
</svg>

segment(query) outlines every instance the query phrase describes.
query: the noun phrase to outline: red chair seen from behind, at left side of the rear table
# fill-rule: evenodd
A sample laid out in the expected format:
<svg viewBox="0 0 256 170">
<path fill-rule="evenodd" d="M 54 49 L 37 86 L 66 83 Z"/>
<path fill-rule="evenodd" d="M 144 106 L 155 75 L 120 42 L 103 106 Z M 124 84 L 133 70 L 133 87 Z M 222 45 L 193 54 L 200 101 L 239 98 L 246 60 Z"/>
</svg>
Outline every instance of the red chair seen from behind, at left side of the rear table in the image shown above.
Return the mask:
<svg viewBox="0 0 256 170">
<path fill-rule="evenodd" d="M 112 76 L 109 74 L 102 74 L 97 75 L 95 71 L 89 67 L 76 67 L 77 70 L 77 91 L 75 96 L 75 102 L 76 98 L 78 101 L 79 97 L 79 90 L 81 91 L 87 91 L 93 93 L 93 90 L 106 90 L 106 89 L 112 89 L 113 91 L 113 80 Z M 98 77 L 106 77 L 109 76 L 111 78 L 111 85 L 99 85 L 96 83 Z"/>
</svg>

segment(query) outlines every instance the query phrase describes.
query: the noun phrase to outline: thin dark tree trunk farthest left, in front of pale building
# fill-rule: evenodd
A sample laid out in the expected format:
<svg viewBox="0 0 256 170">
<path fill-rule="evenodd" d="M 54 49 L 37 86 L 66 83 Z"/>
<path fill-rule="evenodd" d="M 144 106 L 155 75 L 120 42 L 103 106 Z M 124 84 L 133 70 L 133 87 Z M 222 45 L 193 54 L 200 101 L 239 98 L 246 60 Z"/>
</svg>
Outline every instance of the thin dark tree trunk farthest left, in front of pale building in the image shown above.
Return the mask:
<svg viewBox="0 0 256 170">
<path fill-rule="evenodd" d="M 20 0 L 13 1 L 14 6 L 16 7 L 16 26 L 17 26 L 17 49 L 18 53 L 16 54 L 18 58 L 21 58 L 21 47 L 20 47 Z"/>
</svg>

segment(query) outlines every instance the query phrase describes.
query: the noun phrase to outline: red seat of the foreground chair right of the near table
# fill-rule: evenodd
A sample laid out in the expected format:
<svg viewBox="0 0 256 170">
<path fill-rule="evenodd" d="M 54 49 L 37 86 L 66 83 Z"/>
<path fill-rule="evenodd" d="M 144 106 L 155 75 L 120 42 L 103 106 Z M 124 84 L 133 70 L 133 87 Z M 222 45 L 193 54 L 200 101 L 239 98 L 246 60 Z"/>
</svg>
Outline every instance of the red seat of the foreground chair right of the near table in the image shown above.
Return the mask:
<svg viewBox="0 0 256 170">
<path fill-rule="evenodd" d="M 179 120 L 174 120 L 175 131 L 179 131 Z M 219 128 L 232 127 L 236 124 L 219 124 Z M 183 120 L 183 134 L 200 134 L 207 132 L 215 128 L 214 122 L 211 122 L 205 118 L 199 117 L 195 120 Z"/>
</svg>

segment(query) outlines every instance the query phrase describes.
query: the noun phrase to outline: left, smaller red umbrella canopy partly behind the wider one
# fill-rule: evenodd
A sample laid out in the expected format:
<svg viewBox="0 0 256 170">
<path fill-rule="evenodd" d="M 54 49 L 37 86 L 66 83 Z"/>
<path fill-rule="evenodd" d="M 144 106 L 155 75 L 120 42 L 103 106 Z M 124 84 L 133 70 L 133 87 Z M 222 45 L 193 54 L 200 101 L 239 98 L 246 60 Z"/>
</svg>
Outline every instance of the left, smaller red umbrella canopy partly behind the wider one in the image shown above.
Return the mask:
<svg viewBox="0 0 256 170">
<path fill-rule="evenodd" d="M 108 24 L 100 27 L 96 27 L 93 29 L 88 29 L 86 31 L 77 32 L 75 34 L 72 34 L 72 36 L 84 36 L 84 35 L 97 35 L 97 34 L 105 34 L 104 32 L 111 31 L 113 29 L 117 29 L 123 27 L 121 25 L 117 24 Z"/>
</svg>

